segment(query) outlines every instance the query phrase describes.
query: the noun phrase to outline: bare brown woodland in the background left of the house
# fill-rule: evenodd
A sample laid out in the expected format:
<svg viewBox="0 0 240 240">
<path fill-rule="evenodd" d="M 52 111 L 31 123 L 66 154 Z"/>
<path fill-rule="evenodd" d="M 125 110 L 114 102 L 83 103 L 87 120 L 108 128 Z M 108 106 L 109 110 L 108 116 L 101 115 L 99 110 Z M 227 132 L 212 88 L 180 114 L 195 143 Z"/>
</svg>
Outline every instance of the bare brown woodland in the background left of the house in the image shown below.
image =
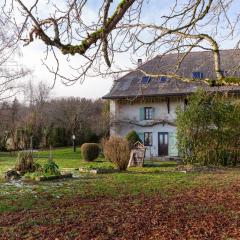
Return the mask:
<svg viewBox="0 0 240 240">
<path fill-rule="evenodd" d="M 107 101 L 86 98 L 51 98 L 45 83 L 25 88 L 24 101 L 0 104 L 0 150 L 64 147 L 99 142 L 109 132 Z"/>
</svg>

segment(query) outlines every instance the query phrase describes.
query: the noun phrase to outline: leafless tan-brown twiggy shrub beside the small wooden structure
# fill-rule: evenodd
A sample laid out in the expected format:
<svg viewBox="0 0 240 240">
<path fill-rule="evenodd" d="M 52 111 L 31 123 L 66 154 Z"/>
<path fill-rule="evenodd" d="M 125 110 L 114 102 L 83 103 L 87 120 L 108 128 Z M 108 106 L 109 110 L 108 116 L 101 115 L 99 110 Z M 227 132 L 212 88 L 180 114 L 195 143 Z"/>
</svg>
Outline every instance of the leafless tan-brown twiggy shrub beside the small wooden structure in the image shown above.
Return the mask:
<svg viewBox="0 0 240 240">
<path fill-rule="evenodd" d="M 111 136 L 109 140 L 104 142 L 104 156 L 111 162 L 115 163 L 119 170 L 127 169 L 130 149 L 128 141 L 118 136 Z"/>
</svg>

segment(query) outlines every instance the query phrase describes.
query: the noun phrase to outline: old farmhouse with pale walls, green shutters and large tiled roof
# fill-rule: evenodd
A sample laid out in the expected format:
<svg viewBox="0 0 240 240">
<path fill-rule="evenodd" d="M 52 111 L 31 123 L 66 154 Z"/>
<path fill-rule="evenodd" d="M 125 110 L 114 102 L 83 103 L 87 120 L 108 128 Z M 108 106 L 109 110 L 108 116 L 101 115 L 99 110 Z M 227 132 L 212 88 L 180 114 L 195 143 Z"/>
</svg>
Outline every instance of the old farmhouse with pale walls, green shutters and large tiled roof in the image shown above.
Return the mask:
<svg viewBox="0 0 240 240">
<path fill-rule="evenodd" d="M 187 83 L 182 80 L 151 75 L 172 74 L 178 55 L 158 56 L 139 66 L 114 82 L 109 94 L 111 135 L 126 136 L 135 130 L 147 147 L 146 157 L 176 157 L 176 109 L 187 105 L 187 96 L 198 88 L 239 95 L 239 86 L 209 87 L 203 79 L 215 79 L 214 62 L 210 52 L 190 53 L 181 63 L 177 74 L 193 78 Z M 231 72 L 240 63 L 240 53 L 232 50 L 221 52 L 222 68 L 228 76 L 240 77 L 240 72 Z"/>
</svg>

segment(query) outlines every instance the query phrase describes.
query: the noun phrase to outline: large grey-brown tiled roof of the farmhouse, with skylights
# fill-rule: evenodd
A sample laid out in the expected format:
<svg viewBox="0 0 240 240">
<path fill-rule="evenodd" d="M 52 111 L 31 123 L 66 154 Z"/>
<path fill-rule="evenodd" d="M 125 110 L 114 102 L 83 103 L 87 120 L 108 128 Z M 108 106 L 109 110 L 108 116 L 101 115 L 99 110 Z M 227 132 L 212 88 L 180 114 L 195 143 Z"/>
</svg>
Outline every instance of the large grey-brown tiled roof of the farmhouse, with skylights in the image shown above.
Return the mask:
<svg viewBox="0 0 240 240">
<path fill-rule="evenodd" d="M 235 67 L 240 65 L 240 51 L 222 50 L 220 55 L 221 69 L 227 72 L 227 76 L 240 77 L 239 69 L 233 71 L 233 69 L 236 70 Z M 173 74 L 178 58 L 179 55 L 177 54 L 157 56 L 140 66 L 139 70 L 152 75 Z M 201 80 L 184 82 L 179 79 L 171 78 L 167 79 L 166 82 L 161 82 L 159 77 L 152 77 L 148 84 L 142 84 L 141 79 L 144 73 L 139 70 L 132 71 L 116 80 L 110 92 L 103 98 L 118 99 L 136 96 L 186 95 L 195 92 L 199 87 L 206 88 L 209 91 L 236 92 L 240 94 L 240 86 L 209 87 Z M 212 52 L 202 51 L 189 53 L 182 61 L 179 70 L 175 74 L 183 78 L 192 78 L 193 72 L 202 72 L 204 78 L 216 79 Z"/>
</svg>

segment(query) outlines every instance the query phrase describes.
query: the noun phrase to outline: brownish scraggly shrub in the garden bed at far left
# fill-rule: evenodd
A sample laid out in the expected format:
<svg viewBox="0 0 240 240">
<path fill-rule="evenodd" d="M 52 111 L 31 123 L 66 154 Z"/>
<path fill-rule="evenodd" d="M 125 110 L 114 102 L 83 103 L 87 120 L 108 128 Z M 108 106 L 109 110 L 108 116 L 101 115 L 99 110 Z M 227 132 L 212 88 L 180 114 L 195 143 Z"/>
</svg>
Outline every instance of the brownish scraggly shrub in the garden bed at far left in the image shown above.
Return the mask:
<svg viewBox="0 0 240 240">
<path fill-rule="evenodd" d="M 19 152 L 17 156 L 17 161 L 15 169 L 21 174 L 26 172 L 34 172 L 35 166 L 33 162 L 33 156 L 31 152 Z"/>
</svg>

